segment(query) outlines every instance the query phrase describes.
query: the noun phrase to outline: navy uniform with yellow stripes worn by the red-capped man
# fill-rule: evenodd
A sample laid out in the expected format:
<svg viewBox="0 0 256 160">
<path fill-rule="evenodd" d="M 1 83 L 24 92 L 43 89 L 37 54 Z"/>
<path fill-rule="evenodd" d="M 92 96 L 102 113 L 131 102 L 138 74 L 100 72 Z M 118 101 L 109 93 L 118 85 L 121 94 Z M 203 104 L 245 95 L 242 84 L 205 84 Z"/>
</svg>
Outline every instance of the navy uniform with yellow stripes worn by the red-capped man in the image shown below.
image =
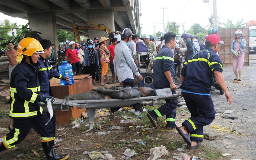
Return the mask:
<svg viewBox="0 0 256 160">
<path fill-rule="evenodd" d="M 210 96 L 214 71 L 223 70 L 223 64 L 213 49 L 206 47 L 184 63 L 181 85 L 186 105 L 191 117 L 182 123 L 190 133 L 191 141 L 203 141 L 203 126 L 215 119 L 214 104 Z"/>
</svg>

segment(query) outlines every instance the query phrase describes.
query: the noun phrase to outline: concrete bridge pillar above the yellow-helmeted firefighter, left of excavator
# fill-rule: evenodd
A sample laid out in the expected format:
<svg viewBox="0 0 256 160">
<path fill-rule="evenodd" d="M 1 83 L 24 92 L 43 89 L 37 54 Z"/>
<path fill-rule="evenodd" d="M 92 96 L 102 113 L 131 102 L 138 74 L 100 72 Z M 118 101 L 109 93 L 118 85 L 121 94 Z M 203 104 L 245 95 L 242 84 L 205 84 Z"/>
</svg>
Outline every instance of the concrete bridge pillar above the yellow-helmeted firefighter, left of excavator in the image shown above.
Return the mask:
<svg viewBox="0 0 256 160">
<path fill-rule="evenodd" d="M 48 39 L 55 44 L 54 57 L 56 58 L 58 51 L 58 38 L 55 13 L 30 13 L 27 14 L 27 17 L 30 22 L 29 27 L 33 31 L 41 32 L 42 34 L 39 35 L 42 39 Z"/>
</svg>

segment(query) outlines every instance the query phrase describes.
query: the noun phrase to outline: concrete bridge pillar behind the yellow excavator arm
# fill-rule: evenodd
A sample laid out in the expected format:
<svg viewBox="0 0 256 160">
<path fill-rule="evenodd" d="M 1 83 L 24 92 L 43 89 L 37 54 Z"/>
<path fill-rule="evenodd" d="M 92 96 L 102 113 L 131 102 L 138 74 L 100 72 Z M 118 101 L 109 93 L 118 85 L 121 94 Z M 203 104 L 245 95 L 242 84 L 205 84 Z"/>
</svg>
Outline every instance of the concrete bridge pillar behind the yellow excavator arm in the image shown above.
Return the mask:
<svg viewBox="0 0 256 160">
<path fill-rule="evenodd" d="M 113 9 L 95 9 L 95 10 L 88 10 L 88 23 L 96 23 L 96 24 L 104 24 L 105 26 L 109 27 L 111 31 L 115 31 L 114 25 L 114 11 Z M 88 30 L 89 31 L 89 38 L 91 40 L 94 37 L 97 37 L 99 40 L 101 37 L 107 37 L 107 33 L 104 31 L 95 31 L 95 30 Z M 106 46 L 108 46 L 109 41 L 107 41 Z"/>
</svg>

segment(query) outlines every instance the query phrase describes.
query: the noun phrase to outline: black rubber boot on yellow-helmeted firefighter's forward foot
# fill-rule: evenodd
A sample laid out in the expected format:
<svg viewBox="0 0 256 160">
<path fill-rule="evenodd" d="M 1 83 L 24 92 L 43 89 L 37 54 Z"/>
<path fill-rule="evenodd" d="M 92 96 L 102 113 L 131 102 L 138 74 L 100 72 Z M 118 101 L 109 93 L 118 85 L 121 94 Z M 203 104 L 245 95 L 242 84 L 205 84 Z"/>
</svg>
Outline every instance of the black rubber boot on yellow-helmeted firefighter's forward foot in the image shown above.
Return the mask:
<svg viewBox="0 0 256 160">
<path fill-rule="evenodd" d="M 69 154 L 58 155 L 54 150 L 54 141 L 42 142 L 43 152 L 47 160 L 64 160 L 69 158 Z"/>
</svg>

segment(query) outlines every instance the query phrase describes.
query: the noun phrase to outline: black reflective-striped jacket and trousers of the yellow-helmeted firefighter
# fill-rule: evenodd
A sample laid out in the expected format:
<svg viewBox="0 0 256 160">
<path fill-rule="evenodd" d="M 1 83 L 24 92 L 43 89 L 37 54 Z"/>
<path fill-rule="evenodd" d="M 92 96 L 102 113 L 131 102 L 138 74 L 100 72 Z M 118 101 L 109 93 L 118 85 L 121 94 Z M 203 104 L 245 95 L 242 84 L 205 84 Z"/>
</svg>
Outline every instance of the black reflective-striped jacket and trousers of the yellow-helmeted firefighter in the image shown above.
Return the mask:
<svg viewBox="0 0 256 160">
<path fill-rule="evenodd" d="M 38 63 L 37 63 L 38 64 Z M 53 125 L 40 106 L 40 85 L 38 70 L 34 65 L 22 61 L 11 72 L 10 80 L 10 118 L 13 130 L 4 138 L 6 148 L 13 148 L 29 133 L 31 127 L 41 135 L 42 142 L 53 140 Z"/>
</svg>

